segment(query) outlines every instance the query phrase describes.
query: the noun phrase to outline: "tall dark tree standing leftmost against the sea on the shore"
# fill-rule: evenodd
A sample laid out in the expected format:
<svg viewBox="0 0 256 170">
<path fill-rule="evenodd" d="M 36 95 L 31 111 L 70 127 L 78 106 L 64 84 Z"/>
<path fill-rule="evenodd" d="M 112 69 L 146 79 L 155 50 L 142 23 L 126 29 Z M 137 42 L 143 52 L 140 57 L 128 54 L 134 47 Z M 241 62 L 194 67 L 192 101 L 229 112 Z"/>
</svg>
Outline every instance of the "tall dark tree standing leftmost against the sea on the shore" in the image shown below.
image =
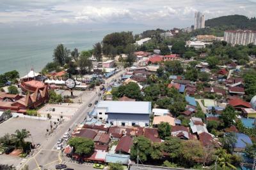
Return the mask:
<svg viewBox="0 0 256 170">
<path fill-rule="evenodd" d="M 70 51 L 67 50 L 67 48 L 63 44 L 60 44 L 54 49 L 53 59 L 55 62 L 60 64 L 60 66 L 64 66 L 64 64 L 67 61 L 69 53 Z"/>
</svg>

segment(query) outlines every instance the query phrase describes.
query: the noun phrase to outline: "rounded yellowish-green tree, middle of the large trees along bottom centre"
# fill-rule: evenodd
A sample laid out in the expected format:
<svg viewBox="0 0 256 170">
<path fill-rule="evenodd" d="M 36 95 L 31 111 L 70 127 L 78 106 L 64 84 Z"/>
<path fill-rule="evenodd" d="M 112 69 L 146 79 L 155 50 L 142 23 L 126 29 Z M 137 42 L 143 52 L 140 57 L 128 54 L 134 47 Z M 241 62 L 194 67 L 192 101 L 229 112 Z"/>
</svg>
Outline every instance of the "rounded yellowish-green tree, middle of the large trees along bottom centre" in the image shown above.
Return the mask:
<svg viewBox="0 0 256 170">
<path fill-rule="evenodd" d="M 166 137 L 162 143 L 163 151 L 169 154 L 169 157 L 173 159 L 179 158 L 182 152 L 182 145 L 179 138 Z"/>
</svg>

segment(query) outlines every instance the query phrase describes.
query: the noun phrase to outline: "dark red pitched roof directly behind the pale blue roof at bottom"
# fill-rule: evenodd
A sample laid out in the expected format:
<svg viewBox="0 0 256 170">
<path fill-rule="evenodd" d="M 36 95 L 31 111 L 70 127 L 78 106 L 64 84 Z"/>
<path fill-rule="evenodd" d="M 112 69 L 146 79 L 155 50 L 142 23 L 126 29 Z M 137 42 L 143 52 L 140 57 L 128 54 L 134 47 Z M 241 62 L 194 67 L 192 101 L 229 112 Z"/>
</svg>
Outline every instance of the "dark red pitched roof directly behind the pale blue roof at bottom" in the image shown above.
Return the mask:
<svg viewBox="0 0 256 170">
<path fill-rule="evenodd" d="M 132 138 L 130 136 L 123 136 L 116 146 L 115 152 L 125 152 L 129 153 L 132 147 Z"/>
</svg>

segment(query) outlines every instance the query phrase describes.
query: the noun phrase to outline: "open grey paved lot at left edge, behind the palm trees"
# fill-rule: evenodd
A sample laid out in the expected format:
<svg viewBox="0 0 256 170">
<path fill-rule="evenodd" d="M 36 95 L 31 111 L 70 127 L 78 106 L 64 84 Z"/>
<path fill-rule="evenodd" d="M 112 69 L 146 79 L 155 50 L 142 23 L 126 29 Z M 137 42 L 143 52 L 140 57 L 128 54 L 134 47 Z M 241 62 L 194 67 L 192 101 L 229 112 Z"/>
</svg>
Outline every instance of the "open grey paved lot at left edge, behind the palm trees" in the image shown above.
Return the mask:
<svg viewBox="0 0 256 170">
<path fill-rule="evenodd" d="M 36 120 L 32 118 L 10 118 L 0 124 L 0 136 L 9 133 L 13 134 L 17 129 L 27 129 L 31 133 L 31 137 L 26 139 L 33 143 L 43 143 L 45 141 L 46 129 L 50 128 L 48 120 Z"/>
</svg>

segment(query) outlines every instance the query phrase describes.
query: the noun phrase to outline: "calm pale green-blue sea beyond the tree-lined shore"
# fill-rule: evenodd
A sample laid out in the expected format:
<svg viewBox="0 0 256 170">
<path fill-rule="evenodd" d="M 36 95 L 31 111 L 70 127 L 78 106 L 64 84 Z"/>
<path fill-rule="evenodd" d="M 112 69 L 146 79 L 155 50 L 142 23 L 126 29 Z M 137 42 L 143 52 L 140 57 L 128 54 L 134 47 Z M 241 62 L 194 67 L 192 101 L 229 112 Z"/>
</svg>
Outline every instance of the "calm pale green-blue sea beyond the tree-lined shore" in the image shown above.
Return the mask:
<svg viewBox="0 0 256 170">
<path fill-rule="evenodd" d="M 0 74 L 17 70 L 24 76 L 31 68 L 41 71 L 52 61 L 53 50 L 60 43 L 71 51 L 90 50 L 106 34 L 132 31 L 138 34 L 145 27 L 86 27 L 84 25 L 56 25 L 44 27 L 0 27 Z"/>
</svg>

